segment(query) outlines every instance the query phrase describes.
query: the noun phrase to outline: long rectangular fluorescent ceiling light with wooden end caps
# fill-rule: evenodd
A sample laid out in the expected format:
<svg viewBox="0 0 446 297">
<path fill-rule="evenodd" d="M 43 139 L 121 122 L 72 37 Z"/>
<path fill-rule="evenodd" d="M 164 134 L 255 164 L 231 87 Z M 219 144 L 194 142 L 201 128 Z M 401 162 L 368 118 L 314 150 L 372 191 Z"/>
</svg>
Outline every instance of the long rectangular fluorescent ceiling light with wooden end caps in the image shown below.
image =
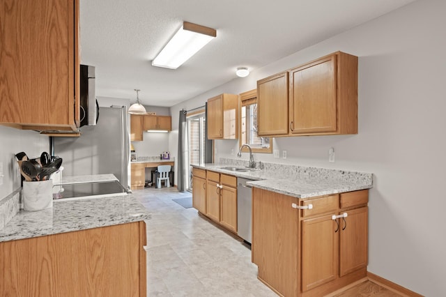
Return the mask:
<svg viewBox="0 0 446 297">
<path fill-rule="evenodd" d="M 183 26 L 153 59 L 152 66 L 176 69 L 215 36 L 217 36 L 215 29 L 183 22 Z"/>
</svg>

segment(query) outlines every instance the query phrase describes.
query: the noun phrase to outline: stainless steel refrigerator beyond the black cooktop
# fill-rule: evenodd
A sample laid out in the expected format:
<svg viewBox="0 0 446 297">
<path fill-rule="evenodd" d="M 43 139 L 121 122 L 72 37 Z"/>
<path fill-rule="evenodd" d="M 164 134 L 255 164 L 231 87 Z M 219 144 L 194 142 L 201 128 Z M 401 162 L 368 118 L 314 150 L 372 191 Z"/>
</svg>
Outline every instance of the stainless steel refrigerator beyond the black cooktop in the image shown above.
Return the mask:
<svg viewBox="0 0 446 297">
<path fill-rule="evenodd" d="M 62 175 L 114 174 L 129 188 L 127 107 L 100 107 L 98 123 L 80 130 L 80 137 L 54 137 L 54 155 L 63 158 Z"/>
</svg>

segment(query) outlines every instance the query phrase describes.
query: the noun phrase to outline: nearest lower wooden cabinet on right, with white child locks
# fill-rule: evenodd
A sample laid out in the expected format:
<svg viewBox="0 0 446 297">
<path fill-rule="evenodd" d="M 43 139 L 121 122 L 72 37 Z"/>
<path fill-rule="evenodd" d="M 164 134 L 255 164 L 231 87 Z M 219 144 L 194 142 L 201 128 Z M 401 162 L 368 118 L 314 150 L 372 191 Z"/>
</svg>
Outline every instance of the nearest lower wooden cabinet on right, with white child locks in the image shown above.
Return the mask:
<svg viewBox="0 0 446 297">
<path fill-rule="evenodd" d="M 278 294 L 324 296 L 367 275 L 368 190 L 309 199 L 253 191 L 252 261 Z"/>
</svg>

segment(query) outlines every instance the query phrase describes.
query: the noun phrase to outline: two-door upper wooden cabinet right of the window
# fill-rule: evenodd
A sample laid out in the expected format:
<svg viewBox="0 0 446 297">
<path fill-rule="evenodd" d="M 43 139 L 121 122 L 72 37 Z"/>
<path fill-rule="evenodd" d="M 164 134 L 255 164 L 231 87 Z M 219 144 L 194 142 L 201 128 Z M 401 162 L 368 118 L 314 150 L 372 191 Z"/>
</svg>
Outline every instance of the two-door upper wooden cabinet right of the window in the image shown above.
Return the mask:
<svg viewBox="0 0 446 297">
<path fill-rule="evenodd" d="M 335 52 L 261 79 L 257 89 L 259 135 L 357 133 L 357 56 Z"/>
</svg>

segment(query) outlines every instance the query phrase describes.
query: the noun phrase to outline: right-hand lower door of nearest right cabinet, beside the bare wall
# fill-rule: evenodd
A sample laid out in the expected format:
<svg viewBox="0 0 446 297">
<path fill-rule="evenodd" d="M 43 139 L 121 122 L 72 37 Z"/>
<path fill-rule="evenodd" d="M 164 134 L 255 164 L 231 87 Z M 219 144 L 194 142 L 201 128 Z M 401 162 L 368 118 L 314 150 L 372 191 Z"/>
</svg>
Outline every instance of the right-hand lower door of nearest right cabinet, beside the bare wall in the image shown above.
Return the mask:
<svg viewBox="0 0 446 297">
<path fill-rule="evenodd" d="M 346 213 L 345 221 L 339 220 L 339 276 L 367 266 L 368 208 Z"/>
</svg>

